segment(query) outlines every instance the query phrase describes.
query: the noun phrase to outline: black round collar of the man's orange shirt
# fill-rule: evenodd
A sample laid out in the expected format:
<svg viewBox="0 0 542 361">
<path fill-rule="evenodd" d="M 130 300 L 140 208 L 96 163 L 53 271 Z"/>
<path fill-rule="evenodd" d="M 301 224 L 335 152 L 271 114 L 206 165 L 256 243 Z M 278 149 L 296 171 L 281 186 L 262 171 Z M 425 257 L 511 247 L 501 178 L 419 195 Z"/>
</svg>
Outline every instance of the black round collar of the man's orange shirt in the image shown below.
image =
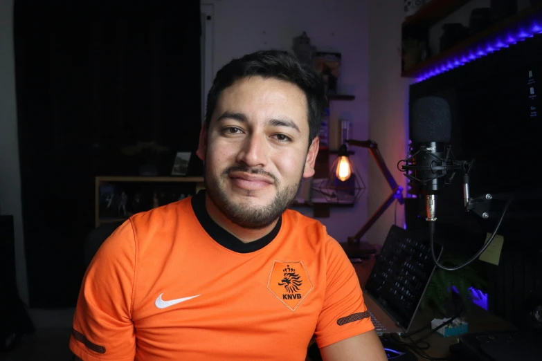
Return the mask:
<svg viewBox="0 0 542 361">
<path fill-rule="evenodd" d="M 264 237 L 249 243 L 244 243 L 211 219 L 205 207 L 205 197 L 204 189 L 195 194 L 195 196 L 192 196 L 192 208 L 194 209 L 194 213 L 196 214 L 199 223 L 201 223 L 201 226 L 210 237 L 217 241 L 221 246 L 228 248 L 228 250 L 233 250 L 238 253 L 250 253 L 260 250 L 271 243 L 280 231 L 282 216 L 278 219 L 275 228 Z"/>
</svg>

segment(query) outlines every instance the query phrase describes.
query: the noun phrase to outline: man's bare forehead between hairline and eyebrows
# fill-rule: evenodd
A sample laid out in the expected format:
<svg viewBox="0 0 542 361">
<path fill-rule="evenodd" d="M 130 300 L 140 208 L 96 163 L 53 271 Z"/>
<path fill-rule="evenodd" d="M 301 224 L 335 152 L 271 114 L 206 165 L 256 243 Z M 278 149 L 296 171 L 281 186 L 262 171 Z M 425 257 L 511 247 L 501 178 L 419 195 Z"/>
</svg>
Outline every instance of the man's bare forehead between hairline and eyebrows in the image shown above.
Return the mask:
<svg viewBox="0 0 542 361">
<path fill-rule="evenodd" d="M 230 111 L 244 113 L 251 122 L 290 118 L 302 132 L 309 131 L 307 96 L 296 84 L 260 76 L 245 77 L 224 89 L 213 118 Z"/>
</svg>

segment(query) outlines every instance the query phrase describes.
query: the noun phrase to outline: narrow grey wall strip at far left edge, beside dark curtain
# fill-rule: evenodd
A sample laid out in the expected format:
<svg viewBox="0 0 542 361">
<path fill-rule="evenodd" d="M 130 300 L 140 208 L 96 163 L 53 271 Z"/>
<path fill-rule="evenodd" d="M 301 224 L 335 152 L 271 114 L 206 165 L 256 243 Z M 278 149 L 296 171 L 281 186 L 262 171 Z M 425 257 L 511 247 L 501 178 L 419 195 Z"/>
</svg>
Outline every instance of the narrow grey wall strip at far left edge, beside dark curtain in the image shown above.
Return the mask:
<svg viewBox="0 0 542 361">
<path fill-rule="evenodd" d="M 13 0 L 0 0 L 0 212 L 14 216 L 17 287 L 21 299 L 28 304 L 15 104 Z"/>
</svg>

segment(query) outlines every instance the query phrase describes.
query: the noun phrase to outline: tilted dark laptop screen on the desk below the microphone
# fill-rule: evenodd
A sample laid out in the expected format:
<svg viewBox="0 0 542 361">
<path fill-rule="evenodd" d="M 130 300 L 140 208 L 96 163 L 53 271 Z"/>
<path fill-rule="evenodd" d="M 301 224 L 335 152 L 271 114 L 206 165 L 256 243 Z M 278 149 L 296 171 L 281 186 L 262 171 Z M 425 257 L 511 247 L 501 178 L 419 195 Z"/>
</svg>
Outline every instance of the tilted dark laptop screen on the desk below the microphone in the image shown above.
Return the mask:
<svg viewBox="0 0 542 361">
<path fill-rule="evenodd" d="M 442 248 L 435 244 L 440 258 Z M 408 333 L 435 271 L 429 241 L 392 225 L 363 297 L 378 335 Z"/>
</svg>

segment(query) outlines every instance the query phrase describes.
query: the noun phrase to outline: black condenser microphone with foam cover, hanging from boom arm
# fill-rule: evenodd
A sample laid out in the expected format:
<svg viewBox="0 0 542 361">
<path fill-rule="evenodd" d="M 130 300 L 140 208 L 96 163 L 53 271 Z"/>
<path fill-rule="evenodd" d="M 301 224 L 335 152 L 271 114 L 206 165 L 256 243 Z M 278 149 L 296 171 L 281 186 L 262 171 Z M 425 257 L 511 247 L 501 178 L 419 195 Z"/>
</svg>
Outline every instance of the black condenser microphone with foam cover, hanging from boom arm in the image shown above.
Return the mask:
<svg viewBox="0 0 542 361">
<path fill-rule="evenodd" d="M 448 102 L 438 97 L 424 97 L 410 106 L 410 140 L 413 157 L 412 176 L 419 183 L 425 198 L 426 221 L 436 221 L 437 194 L 453 177 L 453 160 L 446 142 L 451 138 L 451 117 Z M 406 162 L 408 167 L 408 162 Z"/>
</svg>

